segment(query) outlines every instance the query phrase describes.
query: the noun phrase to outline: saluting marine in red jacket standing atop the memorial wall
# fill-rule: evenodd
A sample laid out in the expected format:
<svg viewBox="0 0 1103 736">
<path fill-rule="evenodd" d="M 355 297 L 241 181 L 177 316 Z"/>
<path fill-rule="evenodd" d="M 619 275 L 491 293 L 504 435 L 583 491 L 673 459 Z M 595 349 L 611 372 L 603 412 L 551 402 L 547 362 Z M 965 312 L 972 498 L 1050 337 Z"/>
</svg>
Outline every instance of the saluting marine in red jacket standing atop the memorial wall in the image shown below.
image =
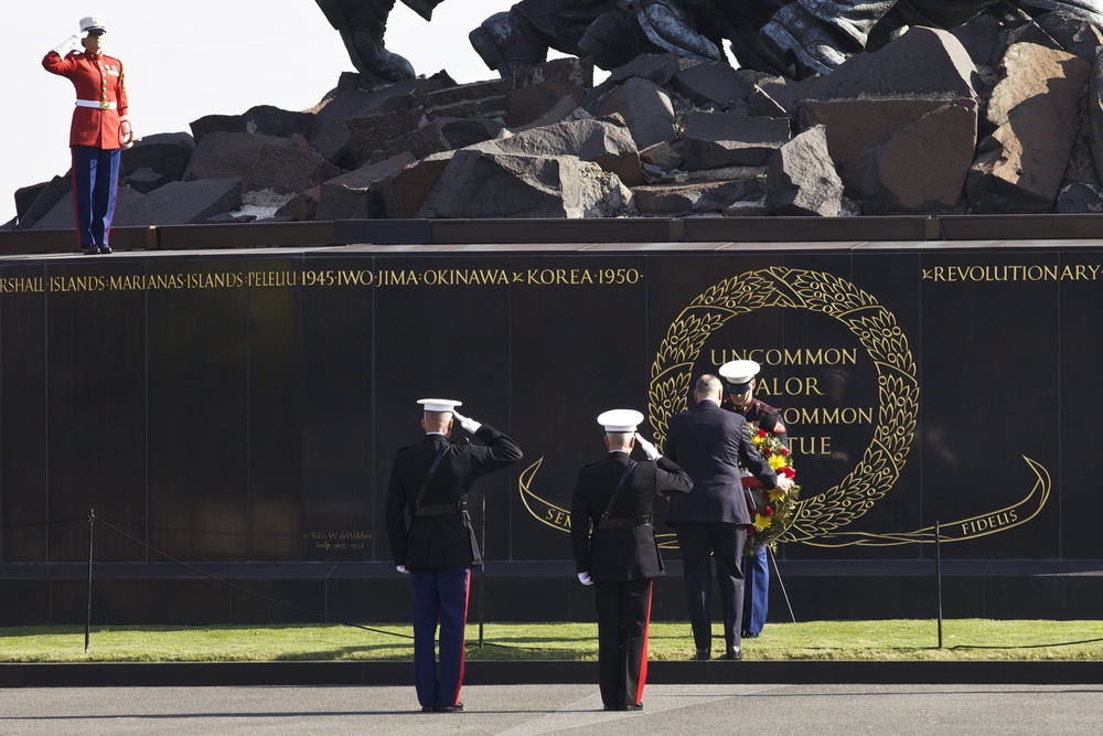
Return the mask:
<svg viewBox="0 0 1103 736">
<path fill-rule="evenodd" d="M 81 21 L 83 38 L 73 35 L 42 60 L 52 74 L 68 78 L 76 88 L 76 109 L 69 129 L 73 150 L 73 204 L 81 249 L 110 253 L 108 234 L 115 214 L 119 160 L 133 134 L 127 115 L 122 62 L 100 51 L 104 20 Z M 76 51 L 83 45 L 85 51 Z"/>
</svg>

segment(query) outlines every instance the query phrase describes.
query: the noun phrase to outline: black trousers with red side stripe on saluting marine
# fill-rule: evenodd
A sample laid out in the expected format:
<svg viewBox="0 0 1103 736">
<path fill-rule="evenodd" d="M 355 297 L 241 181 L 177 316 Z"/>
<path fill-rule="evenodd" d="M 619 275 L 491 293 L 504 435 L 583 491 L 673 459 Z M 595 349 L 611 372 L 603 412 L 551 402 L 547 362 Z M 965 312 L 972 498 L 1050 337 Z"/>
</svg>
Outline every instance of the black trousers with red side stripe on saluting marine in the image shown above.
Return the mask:
<svg viewBox="0 0 1103 736">
<path fill-rule="evenodd" d="M 595 583 L 598 600 L 598 685 L 611 710 L 636 705 L 647 680 L 651 579 Z"/>
</svg>

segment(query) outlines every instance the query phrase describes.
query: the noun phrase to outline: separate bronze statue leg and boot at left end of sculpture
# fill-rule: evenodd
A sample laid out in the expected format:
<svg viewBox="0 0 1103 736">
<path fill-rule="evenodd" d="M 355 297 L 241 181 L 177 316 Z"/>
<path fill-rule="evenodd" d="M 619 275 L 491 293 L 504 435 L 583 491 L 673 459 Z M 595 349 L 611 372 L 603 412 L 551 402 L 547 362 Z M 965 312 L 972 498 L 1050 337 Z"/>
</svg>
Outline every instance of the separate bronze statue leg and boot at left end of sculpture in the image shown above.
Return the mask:
<svg viewBox="0 0 1103 736">
<path fill-rule="evenodd" d="M 443 0 L 403 0 L 426 20 Z M 387 51 L 383 36 L 395 0 L 315 0 L 325 19 L 341 34 L 349 58 L 371 86 L 392 84 L 414 76 L 414 66 Z"/>
</svg>

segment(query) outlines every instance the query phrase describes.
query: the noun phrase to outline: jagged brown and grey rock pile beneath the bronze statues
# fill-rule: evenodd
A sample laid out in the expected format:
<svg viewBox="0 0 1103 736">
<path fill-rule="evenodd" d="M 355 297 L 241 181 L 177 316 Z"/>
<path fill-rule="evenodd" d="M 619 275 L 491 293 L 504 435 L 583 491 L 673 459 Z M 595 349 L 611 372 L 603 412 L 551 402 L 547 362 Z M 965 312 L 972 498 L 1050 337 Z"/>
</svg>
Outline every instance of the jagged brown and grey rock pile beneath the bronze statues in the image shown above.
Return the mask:
<svg viewBox="0 0 1103 736">
<path fill-rule="evenodd" d="M 1103 211 L 1100 30 L 1053 12 L 914 28 L 792 82 L 641 56 L 255 107 L 122 154 L 115 224 Z M 6 227 L 72 227 L 64 178 Z"/>
</svg>

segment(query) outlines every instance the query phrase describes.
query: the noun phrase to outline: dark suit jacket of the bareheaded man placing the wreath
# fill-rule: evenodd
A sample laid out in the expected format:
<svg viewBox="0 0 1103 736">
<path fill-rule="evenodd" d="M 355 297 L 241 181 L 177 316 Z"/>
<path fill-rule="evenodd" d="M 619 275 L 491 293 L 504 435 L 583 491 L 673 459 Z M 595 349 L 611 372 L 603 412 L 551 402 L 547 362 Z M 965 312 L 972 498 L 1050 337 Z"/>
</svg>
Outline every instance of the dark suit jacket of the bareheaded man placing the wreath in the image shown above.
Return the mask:
<svg viewBox="0 0 1103 736">
<path fill-rule="evenodd" d="M 763 487 L 778 484 L 777 473 L 754 449 L 747 420 L 707 399 L 671 418 L 663 451 L 693 478 L 693 492 L 671 499 L 667 524 L 749 524 L 740 461 Z"/>
</svg>

